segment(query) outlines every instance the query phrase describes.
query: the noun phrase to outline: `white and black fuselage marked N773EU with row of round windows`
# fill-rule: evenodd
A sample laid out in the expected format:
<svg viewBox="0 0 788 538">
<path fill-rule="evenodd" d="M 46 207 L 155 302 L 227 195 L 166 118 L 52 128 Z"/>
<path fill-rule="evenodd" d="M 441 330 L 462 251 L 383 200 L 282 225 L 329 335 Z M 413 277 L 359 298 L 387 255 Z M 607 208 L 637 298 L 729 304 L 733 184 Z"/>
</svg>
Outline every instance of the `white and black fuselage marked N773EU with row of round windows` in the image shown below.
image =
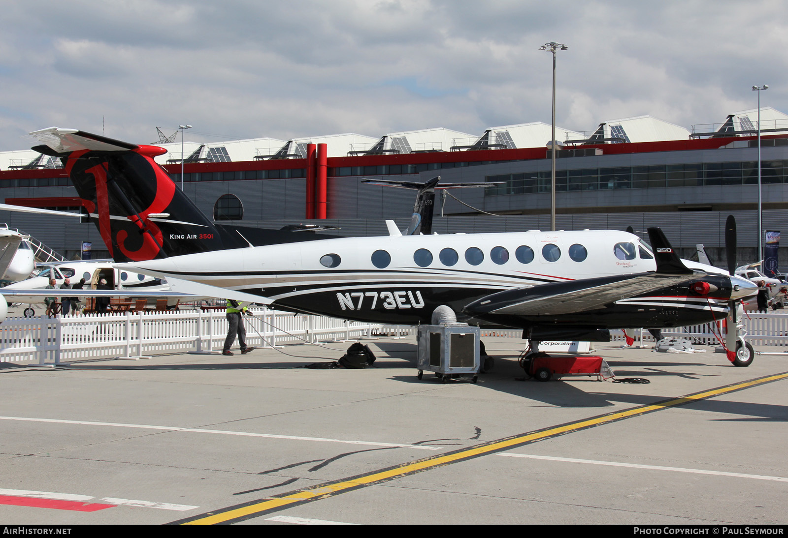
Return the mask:
<svg viewBox="0 0 788 538">
<path fill-rule="evenodd" d="M 584 230 L 336 238 L 199 252 L 118 267 L 243 290 L 292 311 L 416 324 L 429 323 L 440 304 L 461 312 L 491 293 L 654 271 L 656 263 L 634 234 Z M 718 288 L 725 291 L 722 284 Z M 688 297 L 688 291 L 674 286 L 617 301 L 597 311 L 597 320 L 609 328 L 681 326 L 725 315 L 724 293 L 716 300 L 713 295 Z M 589 312 L 500 320 L 507 326 L 534 323 L 587 325 Z"/>
</svg>

